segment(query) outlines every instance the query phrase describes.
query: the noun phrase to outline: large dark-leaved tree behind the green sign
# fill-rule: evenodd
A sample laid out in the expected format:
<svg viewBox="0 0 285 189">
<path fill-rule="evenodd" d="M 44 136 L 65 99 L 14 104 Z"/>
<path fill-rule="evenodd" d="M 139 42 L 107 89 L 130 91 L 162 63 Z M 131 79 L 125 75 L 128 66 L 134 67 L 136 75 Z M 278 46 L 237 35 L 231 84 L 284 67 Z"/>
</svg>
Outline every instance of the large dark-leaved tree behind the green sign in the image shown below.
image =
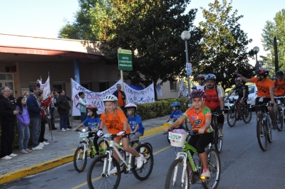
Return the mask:
<svg viewBox="0 0 285 189">
<path fill-rule="evenodd" d="M 98 35 L 100 41 L 108 44 L 103 49 L 108 63 L 118 64 L 118 48 L 123 48 L 133 52 L 133 71 L 125 76 L 133 83 L 156 85 L 158 80 L 166 82 L 186 76 L 185 42 L 180 34 L 190 31 L 195 19 L 197 9 L 184 14 L 190 0 L 109 2 L 112 13 L 100 21 Z M 191 34 L 190 48 L 199 52 L 201 34 L 197 30 Z"/>
</svg>

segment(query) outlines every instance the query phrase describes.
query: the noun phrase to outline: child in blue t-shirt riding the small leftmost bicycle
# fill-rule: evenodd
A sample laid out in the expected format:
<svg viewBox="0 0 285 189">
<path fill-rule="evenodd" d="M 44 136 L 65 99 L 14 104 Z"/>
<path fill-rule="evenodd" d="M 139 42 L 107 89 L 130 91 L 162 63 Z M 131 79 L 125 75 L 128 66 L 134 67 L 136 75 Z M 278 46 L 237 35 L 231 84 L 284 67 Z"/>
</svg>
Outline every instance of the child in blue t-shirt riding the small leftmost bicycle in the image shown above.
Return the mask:
<svg viewBox="0 0 285 189">
<path fill-rule="evenodd" d="M 97 114 L 97 110 L 98 108 L 93 105 L 93 104 L 89 104 L 87 107 L 87 112 L 88 112 L 88 117 L 86 118 L 85 121 L 83 121 L 81 124 L 79 124 L 76 129 L 73 129 L 73 131 L 76 131 L 77 129 L 81 128 L 81 126 L 87 126 L 88 128 L 88 139 L 94 136 L 93 139 L 93 144 L 95 146 L 95 150 L 96 150 L 96 155 L 99 155 L 99 146 L 98 146 L 98 139 L 99 137 L 97 136 L 97 129 L 100 126 L 100 118 Z"/>
</svg>

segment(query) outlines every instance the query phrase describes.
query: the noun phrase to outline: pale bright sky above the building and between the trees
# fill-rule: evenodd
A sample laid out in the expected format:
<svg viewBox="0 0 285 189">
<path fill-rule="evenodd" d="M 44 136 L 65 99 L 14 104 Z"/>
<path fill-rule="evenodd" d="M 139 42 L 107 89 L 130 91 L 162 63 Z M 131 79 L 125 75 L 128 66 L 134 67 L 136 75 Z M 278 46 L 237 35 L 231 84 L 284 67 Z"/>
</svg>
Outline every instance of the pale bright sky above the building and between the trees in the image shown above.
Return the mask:
<svg viewBox="0 0 285 189">
<path fill-rule="evenodd" d="M 192 0 L 188 5 L 187 9 L 198 9 L 195 26 L 203 21 L 199 7 L 209 9 L 209 2 L 214 3 L 214 0 Z M 274 21 L 276 13 L 285 9 L 285 1 L 233 0 L 232 6 L 238 10 L 238 15 L 244 16 L 239 23 L 248 38 L 253 40 L 248 50 L 258 46 L 258 55 L 266 55 L 261 43 L 262 29 L 266 21 Z M 77 0 L 0 0 L 0 33 L 57 38 L 59 29 L 65 21 L 73 21 L 76 11 Z M 255 64 L 255 60 L 249 62 Z"/>
</svg>

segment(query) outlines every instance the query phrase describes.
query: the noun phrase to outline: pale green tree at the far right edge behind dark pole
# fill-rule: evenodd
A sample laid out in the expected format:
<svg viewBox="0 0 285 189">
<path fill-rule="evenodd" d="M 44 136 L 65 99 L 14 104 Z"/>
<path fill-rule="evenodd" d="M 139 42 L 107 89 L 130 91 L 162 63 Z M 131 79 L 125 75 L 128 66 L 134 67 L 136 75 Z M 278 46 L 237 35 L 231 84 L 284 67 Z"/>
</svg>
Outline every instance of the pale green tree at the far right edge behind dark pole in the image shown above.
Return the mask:
<svg viewBox="0 0 285 189">
<path fill-rule="evenodd" d="M 262 45 L 265 51 L 269 51 L 269 54 L 264 57 L 269 63 L 269 69 L 275 73 L 274 70 L 274 42 L 273 38 L 276 37 L 279 40 L 277 45 L 278 63 L 279 69 L 285 70 L 285 9 L 282 9 L 274 17 L 274 21 L 266 21 L 264 29 L 262 29 Z"/>
</svg>

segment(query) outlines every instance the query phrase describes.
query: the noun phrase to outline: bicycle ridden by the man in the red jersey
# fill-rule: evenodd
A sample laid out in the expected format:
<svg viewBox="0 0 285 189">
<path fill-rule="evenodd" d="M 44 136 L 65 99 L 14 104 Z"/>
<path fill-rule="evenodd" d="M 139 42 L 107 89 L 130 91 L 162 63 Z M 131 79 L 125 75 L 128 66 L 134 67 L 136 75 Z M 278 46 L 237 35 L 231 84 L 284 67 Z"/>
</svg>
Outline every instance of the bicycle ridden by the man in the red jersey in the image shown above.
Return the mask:
<svg viewBox="0 0 285 189">
<path fill-rule="evenodd" d="M 219 124 L 217 122 L 217 117 L 219 117 L 219 114 L 217 114 L 217 112 L 211 112 L 211 114 L 212 114 L 211 126 L 214 130 L 214 139 L 213 139 L 214 148 L 217 150 L 218 153 L 221 153 L 223 136 L 222 134 L 219 133 Z"/>
</svg>

